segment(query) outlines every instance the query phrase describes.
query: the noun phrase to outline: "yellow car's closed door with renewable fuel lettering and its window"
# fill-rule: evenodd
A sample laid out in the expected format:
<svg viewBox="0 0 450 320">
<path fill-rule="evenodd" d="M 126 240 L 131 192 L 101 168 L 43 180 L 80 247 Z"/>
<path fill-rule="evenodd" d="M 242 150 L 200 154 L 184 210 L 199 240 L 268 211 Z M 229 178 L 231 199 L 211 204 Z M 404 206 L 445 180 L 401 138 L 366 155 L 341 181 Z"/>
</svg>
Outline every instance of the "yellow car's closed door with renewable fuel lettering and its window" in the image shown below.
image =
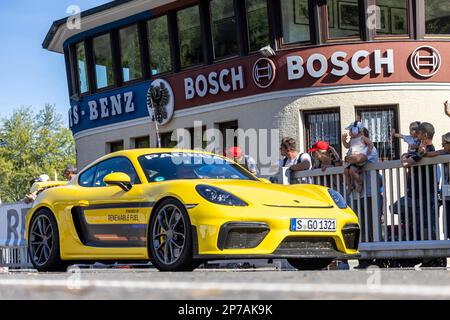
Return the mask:
<svg viewBox="0 0 450 320">
<path fill-rule="evenodd" d="M 105 185 L 105 176 L 115 172 L 130 176 L 130 191 Z M 72 214 L 83 244 L 106 248 L 147 245 L 147 217 L 152 203 L 146 201 L 141 181 L 128 158 L 111 158 L 89 168 L 80 175 L 78 184 L 78 205 Z"/>
</svg>

